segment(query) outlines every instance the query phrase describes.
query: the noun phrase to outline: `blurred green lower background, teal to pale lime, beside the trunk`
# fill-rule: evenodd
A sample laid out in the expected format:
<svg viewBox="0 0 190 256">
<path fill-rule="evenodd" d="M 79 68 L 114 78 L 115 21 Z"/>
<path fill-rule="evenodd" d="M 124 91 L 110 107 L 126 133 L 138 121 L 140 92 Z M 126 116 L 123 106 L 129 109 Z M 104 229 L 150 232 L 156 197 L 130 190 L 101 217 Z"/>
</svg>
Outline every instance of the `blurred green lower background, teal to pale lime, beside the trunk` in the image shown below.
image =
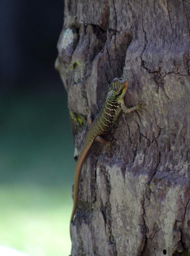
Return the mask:
<svg viewBox="0 0 190 256">
<path fill-rule="evenodd" d="M 74 144 L 63 96 L 1 98 L 0 244 L 69 255 Z"/>
</svg>

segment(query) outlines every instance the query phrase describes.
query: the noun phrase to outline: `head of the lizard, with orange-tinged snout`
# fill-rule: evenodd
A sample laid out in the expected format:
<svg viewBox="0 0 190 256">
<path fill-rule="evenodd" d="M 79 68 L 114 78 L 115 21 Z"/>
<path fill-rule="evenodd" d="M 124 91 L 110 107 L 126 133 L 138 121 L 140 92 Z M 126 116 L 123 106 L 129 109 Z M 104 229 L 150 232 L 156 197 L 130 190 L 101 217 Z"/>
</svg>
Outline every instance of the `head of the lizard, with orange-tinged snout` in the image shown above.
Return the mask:
<svg viewBox="0 0 190 256">
<path fill-rule="evenodd" d="M 112 93 L 118 100 L 122 99 L 126 93 L 128 84 L 128 81 L 122 80 L 121 78 L 114 78 L 109 86 L 108 92 Z"/>
</svg>

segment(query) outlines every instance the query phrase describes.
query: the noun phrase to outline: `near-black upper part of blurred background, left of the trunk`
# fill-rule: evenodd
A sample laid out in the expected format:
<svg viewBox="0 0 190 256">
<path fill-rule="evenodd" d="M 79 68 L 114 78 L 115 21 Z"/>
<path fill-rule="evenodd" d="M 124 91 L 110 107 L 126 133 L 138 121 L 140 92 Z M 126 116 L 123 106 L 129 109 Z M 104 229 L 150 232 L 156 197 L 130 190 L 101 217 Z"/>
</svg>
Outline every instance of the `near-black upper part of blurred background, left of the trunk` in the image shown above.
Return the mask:
<svg viewBox="0 0 190 256">
<path fill-rule="evenodd" d="M 65 94 L 54 70 L 64 2 L 0 1 L 1 94 Z"/>
</svg>

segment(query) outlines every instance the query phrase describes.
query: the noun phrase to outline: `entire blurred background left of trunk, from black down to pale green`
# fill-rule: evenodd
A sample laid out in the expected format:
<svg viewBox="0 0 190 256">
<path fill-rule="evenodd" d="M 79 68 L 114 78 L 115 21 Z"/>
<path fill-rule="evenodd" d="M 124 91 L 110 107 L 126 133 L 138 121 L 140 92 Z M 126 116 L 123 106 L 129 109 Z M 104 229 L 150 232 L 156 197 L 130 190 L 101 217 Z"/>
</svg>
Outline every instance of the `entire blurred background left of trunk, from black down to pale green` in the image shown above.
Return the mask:
<svg viewBox="0 0 190 256">
<path fill-rule="evenodd" d="M 74 143 L 54 70 L 62 0 L 0 2 L 0 245 L 70 254 Z"/>
</svg>

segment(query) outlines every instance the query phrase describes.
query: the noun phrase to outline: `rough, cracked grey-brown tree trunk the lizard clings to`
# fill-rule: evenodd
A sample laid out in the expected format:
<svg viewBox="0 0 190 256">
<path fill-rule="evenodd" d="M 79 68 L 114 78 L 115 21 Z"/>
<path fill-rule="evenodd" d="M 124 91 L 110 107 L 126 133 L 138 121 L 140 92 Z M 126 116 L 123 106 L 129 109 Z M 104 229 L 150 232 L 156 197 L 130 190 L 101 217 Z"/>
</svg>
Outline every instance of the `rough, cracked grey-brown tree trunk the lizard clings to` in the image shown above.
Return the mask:
<svg viewBox="0 0 190 256">
<path fill-rule="evenodd" d="M 76 156 L 113 78 L 129 80 L 127 106 L 146 105 L 119 116 L 111 154 L 92 146 L 72 256 L 189 255 L 190 1 L 65 0 L 58 51 Z"/>
</svg>

